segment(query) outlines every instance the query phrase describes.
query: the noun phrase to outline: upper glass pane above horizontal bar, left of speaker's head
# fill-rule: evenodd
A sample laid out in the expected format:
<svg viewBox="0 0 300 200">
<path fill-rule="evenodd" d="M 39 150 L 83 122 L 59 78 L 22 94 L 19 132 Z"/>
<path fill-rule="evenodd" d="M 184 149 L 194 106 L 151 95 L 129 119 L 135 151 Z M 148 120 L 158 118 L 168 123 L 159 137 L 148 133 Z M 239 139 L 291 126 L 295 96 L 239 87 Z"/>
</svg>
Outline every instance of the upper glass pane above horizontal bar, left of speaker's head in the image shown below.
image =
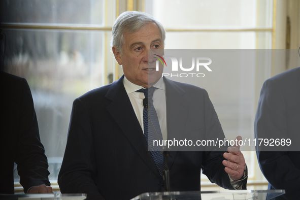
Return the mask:
<svg viewBox="0 0 300 200">
<path fill-rule="evenodd" d="M 104 0 L 10 0 L 1 1 L 0 8 L 5 23 L 105 23 Z"/>
</svg>

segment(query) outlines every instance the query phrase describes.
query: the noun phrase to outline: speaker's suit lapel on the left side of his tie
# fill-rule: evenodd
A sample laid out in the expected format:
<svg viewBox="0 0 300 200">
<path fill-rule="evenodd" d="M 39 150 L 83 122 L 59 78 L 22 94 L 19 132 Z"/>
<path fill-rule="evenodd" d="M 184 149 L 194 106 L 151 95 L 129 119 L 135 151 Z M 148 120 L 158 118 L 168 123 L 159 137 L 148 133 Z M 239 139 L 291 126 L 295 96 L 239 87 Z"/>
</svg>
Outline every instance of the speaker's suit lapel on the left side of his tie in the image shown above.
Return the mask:
<svg viewBox="0 0 300 200">
<path fill-rule="evenodd" d="M 141 158 L 155 174 L 160 177 L 151 152 L 148 151 L 148 145 L 141 125 L 124 88 L 123 77 L 124 75 L 118 81 L 114 82 L 105 95 L 106 98 L 112 101 L 111 104 L 107 106 L 107 110 Z"/>
</svg>

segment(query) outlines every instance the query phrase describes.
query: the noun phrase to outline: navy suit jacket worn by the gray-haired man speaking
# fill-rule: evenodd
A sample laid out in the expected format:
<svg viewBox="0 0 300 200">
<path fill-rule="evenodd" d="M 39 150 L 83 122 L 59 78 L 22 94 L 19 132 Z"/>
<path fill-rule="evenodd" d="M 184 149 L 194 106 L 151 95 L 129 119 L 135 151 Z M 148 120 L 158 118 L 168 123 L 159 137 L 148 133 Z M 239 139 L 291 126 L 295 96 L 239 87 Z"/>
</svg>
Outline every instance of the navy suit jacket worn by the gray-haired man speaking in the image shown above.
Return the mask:
<svg viewBox="0 0 300 200">
<path fill-rule="evenodd" d="M 164 190 L 122 81 L 123 77 L 75 99 L 58 176 L 62 193 L 83 192 L 89 199 L 108 200 Z M 172 132 L 224 138 L 204 89 L 168 79 L 164 83 L 168 138 Z M 220 151 L 171 152 L 171 189 L 200 190 L 201 169 L 212 182 L 232 189 L 222 155 Z"/>
</svg>

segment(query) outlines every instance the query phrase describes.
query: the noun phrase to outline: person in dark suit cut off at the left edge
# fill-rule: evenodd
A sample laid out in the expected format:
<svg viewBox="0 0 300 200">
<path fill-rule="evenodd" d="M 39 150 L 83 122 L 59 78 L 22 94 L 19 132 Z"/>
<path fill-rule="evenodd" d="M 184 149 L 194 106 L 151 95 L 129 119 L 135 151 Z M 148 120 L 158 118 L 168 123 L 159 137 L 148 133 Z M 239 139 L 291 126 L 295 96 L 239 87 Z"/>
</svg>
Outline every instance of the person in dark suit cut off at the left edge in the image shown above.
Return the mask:
<svg viewBox="0 0 300 200">
<path fill-rule="evenodd" d="M 14 193 L 14 162 L 25 193 L 51 193 L 34 102 L 25 79 L 0 72 L 0 193 Z"/>
</svg>

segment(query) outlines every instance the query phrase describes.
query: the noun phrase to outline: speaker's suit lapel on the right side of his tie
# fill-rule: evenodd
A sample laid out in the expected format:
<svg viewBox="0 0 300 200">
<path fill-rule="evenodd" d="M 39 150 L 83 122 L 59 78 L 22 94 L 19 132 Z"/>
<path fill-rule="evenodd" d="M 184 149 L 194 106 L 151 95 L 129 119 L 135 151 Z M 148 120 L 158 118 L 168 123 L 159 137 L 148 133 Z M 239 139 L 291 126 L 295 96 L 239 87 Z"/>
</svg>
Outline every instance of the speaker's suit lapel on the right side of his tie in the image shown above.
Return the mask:
<svg viewBox="0 0 300 200">
<path fill-rule="evenodd" d="M 184 126 L 188 115 L 189 102 L 183 97 L 185 91 L 169 79 L 164 78 L 166 91 L 166 121 L 168 129 L 168 140 L 181 140 L 184 134 Z M 171 170 L 177 155 L 176 147 L 172 148 L 168 158 Z"/>
</svg>

